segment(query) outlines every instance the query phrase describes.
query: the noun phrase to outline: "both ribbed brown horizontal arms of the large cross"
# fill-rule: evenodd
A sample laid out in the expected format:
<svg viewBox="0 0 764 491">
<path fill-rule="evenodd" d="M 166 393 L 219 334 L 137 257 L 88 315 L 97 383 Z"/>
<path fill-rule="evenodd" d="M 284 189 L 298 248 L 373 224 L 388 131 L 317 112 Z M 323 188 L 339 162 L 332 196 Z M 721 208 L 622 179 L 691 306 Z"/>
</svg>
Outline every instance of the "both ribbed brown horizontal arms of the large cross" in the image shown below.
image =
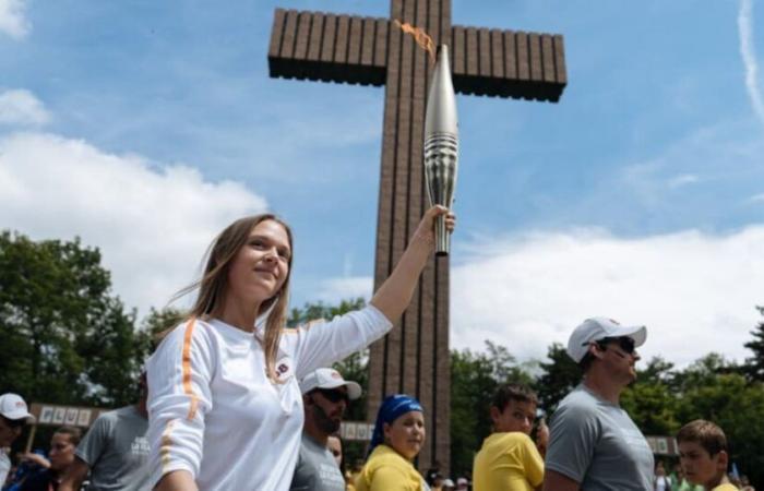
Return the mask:
<svg viewBox="0 0 764 491">
<path fill-rule="evenodd" d="M 396 32 L 387 19 L 276 9 L 270 74 L 383 85 L 390 35 Z M 456 92 L 560 99 L 568 83 L 562 36 L 463 26 L 453 26 L 450 34 Z"/>
</svg>

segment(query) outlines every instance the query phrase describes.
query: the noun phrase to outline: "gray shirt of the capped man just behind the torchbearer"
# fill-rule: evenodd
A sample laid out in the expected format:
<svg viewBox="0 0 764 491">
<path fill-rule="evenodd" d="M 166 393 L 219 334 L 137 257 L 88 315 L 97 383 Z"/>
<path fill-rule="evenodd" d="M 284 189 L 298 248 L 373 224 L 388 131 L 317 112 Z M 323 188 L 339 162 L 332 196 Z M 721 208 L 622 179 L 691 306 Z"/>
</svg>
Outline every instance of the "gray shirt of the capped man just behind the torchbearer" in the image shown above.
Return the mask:
<svg viewBox="0 0 764 491">
<path fill-rule="evenodd" d="M 305 432 L 289 489 L 291 491 L 345 491 L 345 478 L 332 452 Z"/>
</svg>

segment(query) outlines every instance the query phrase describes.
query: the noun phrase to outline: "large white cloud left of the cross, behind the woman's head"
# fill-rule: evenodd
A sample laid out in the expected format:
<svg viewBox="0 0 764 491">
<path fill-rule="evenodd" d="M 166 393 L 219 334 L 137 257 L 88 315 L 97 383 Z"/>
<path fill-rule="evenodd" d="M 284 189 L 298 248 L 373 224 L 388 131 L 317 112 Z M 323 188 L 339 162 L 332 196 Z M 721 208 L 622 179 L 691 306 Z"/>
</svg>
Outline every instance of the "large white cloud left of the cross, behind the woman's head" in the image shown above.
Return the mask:
<svg viewBox="0 0 764 491">
<path fill-rule="evenodd" d="M 80 236 L 98 247 L 114 289 L 145 313 L 200 270 L 228 223 L 263 212 L 240 183 L 210 182 L 191 167 L 110 155 L 41 133 L 0 140 L 0 224 L 34 239 Z"/>
</svg>

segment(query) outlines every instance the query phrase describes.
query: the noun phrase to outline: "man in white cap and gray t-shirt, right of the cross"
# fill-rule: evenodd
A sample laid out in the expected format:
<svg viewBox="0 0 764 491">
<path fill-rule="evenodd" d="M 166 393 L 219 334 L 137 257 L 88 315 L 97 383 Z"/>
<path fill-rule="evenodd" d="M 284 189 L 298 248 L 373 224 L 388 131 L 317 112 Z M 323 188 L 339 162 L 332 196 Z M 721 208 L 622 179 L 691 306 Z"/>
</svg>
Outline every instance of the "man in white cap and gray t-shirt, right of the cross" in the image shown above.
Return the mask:
<svg viewBox="0 0 764 491">
<path fill-rule="evenodd" d="M 552 416 L 546 456 L 545 491 L 653 489 L 653 452 L 619 405 L 636 380 L 636 348 L 645 326 L 587 319 L 568 340 L 568 355 L 584 371 L 583 383 Z"/>
</svg>

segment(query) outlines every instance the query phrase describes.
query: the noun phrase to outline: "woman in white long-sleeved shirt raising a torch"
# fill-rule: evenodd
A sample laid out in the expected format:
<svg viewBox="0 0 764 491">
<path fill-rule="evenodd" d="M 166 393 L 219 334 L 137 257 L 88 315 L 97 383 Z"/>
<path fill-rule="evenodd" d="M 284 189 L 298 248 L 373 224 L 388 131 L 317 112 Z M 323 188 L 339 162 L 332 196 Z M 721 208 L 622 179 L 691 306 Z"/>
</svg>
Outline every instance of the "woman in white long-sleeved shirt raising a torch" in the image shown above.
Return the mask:
<svg viewBox="0 0 764 491">
<path fill-rule="evenodd" d="M 433 251 L 425 213 L 369 306 L 310 327 L 284 330 L 293 264 L 289 227 L 273 215 L 239 219 L 213 242 L 188 321 L 147 363 L 152 487 L 287 490 L 302 430 L 298 386 L 382 337 L 408 306 Z M 259 322 L 262 320 L 262 322 Z"/>
</svg>

